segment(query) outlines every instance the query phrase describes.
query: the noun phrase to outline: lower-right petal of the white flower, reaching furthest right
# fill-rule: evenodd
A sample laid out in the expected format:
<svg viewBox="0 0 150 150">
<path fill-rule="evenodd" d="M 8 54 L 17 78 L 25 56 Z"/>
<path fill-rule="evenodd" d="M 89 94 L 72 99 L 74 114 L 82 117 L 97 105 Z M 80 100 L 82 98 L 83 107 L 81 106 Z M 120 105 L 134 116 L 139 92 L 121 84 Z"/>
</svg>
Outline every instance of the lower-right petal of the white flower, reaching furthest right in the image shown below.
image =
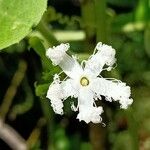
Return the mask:
<svg viewBox="0 0 150 150">
<path fill-rule="evenodd" d="M 123 82 L 115 81 L 109 81 L 104 78 L 96 78 L 92 82 L 91 88 L 97 95 L 105 96 L 106 100 L 118 100 L 121 104 L 121 108 L 127 109 L 128 105 L 131 105 L 133 102 L 133 99 L 130 98 L 130 87 L 126 86 Z"/>
</svg>

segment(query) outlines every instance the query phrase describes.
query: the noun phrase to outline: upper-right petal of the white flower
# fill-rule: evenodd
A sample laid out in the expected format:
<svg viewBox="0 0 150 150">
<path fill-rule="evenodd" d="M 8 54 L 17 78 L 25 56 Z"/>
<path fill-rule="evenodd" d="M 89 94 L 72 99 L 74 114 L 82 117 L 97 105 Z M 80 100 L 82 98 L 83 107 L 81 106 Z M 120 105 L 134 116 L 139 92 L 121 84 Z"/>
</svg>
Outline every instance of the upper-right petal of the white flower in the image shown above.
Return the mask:
<svg viewBox="0 0 150 150">
<path fill-rule="evenodd" d="M 89 70 L 95 76 L 98 76 L 102 71 L 104 65 L 109 66 L 111 70 L 112 65 L 115 63 L 115 49 L 111 46 L 102 44 L 101 42 L 96 46 L 97 52 L 93 54 L 85 64 L 85 70 Z"/>
</svg>

